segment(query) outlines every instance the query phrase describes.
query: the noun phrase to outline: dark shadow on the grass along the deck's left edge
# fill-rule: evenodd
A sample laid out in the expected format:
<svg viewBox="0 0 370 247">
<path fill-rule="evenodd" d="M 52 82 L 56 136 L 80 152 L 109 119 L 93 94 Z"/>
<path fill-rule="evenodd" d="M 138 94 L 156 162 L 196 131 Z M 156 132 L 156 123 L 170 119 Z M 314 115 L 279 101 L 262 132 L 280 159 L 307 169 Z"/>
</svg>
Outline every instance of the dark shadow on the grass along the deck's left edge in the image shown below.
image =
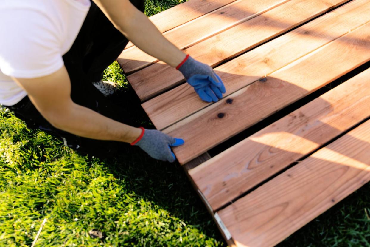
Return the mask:
<svg viewBox="0 0 370 247">
<path fill-rule="evenodd" d="M 129 107 L 128 121 L 135 126 L 154 128 L 129 85 L 124 86 L 111 100 L 119 106 Z M 115 178 L 120 179 L 117 183 L 122 183 L 122 186 L 137 197 L 158 205 L 171 216 L 198 228 L 206 236 L 215 238 L 226 246 L 211 215 L 177 162 L 155 160 L 136 146 L 128 144 L 119 146 L 120 151 L 117 155 L 106 157 L 104 154 L 91 153 L 88 158 L 90 160 L 98 158 Z M 85 153 L 76 152 L 85 156 Z M 99 224 L 96 227 L 99 227 Z M 104 228 L 103 225 L 100 227 Z"/>
</svg>

